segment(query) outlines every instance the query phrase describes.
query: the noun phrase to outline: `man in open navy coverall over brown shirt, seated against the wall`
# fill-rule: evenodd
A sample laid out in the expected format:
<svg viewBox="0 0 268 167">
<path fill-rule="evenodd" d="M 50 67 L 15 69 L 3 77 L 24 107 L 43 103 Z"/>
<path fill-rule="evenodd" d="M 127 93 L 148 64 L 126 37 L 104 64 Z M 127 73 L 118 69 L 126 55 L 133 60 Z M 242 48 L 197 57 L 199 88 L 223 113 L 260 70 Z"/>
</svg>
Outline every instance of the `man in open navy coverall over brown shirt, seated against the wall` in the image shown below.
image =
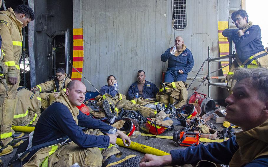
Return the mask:
<svg viewBox="0 0 268 167">
<path fill-rule="evenodd" d="M 134 82 L 128 89 L 128 99 L 135 99 L 136 93 L 142 98 L 155 98 L 156 93 L 159 89 L 155 84 L 145 80 L 145 72 L 139 70 L 137 73 L 138 81 Z"/>
</svg>

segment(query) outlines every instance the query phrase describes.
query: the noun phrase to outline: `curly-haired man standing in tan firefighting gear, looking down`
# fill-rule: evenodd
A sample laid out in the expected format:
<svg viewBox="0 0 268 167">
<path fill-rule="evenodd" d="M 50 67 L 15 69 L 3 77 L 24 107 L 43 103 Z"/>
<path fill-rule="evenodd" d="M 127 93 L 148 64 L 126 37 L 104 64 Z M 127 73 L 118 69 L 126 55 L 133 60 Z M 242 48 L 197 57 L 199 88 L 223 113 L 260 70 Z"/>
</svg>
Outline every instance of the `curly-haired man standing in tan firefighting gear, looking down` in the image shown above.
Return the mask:
<svg viewBox="0 0 268 167">
<path fill-rule="evenodd" d="M 34 12 L 29 6 L 19 5 L 13 11 L 12 8 L 0 11 L 0 35 L 2 37 L 2 50 L 4 64 L 7 66 L 6 82 L 9 90 L 5 93 L 2 105 L 1 120 L 1 145 L 19 146 L 22 140 L 13 140 L 11 124 L 16 107 L 17 88 L 20 82 L 19 59 L 22 51 L 21 29 L 34 20 Z M 23 133 L 21 133 L 23 134 Z M 20 137 L 20 136 L 17 136 Z"/>
</svg>

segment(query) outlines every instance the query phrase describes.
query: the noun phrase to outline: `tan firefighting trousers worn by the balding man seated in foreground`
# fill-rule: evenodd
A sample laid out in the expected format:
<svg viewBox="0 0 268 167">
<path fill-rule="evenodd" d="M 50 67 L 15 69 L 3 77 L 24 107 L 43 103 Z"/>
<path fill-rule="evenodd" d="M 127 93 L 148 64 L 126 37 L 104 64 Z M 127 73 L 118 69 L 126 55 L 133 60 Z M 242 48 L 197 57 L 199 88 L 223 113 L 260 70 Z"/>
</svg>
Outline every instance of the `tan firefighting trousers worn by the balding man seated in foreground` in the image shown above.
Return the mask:
<svg viewBox="0 0 268 167">
<path fill-rule="evenodd" d="M 103 135 L 99 130 L 88 130 L 85 133 L 90 135 Z M 46 149 L 46 148 L 43 148 Z M 122 153 L 114 146 L 110 145 L 109 148 L 81 148 L 74 142 L 67 143 L 62 146 L 58 146 L 57 150 L 52 153 L 46 159 L 43 156 L 42 149 L 38 151 L 33 158 L 24 166 L 42 166 L 58 167 L 58 166 L 71 166 L 74 163 L 78 163 L 79 166 L 97 166 L 101 167 L 102 163 L 112 155 L 116 155 L 118 158 L 122 156 Z"/>
</svg>

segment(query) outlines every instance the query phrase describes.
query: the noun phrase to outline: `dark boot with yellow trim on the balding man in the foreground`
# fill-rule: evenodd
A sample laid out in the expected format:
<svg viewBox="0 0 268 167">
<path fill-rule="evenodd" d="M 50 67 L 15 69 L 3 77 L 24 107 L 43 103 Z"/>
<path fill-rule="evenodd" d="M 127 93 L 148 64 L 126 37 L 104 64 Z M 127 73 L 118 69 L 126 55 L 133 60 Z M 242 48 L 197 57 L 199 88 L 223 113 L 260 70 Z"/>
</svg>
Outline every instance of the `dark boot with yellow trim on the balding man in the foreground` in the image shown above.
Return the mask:
<svg viewBox="0 0 268 167">
<path fill-rule="evenodd" d="M 102 167 L 138 167 L 139 163 L 140 158 L 136 155 L 129 155 L 125 158 L 116 158 L 115 155 L 112 155 L 104 161 Z"/>
</svg>

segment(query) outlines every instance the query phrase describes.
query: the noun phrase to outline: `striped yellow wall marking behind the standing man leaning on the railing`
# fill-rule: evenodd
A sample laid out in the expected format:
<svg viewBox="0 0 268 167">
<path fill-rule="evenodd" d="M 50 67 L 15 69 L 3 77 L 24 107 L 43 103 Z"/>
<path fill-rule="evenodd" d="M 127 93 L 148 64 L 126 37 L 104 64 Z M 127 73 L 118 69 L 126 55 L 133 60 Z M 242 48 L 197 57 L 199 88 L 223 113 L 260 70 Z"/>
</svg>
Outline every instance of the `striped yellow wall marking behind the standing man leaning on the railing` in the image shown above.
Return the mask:
<svg viewBox="0 0 268 167">
<path fill-rule="evenodd" d="M 220 56 L 226 56 L 229 54 L 229 42 L 225 36 L 221 33 L 224 29 L 228 29 L 228 21 L 218 21 L 218 34 L 219 34 L 219 50 Z M 228 61 L 221 61 L 221 67 L 229 64 Z M 222 69 L 223 75 L 226 76 L 229 72 L 229 66 Z"/>
</svg>

